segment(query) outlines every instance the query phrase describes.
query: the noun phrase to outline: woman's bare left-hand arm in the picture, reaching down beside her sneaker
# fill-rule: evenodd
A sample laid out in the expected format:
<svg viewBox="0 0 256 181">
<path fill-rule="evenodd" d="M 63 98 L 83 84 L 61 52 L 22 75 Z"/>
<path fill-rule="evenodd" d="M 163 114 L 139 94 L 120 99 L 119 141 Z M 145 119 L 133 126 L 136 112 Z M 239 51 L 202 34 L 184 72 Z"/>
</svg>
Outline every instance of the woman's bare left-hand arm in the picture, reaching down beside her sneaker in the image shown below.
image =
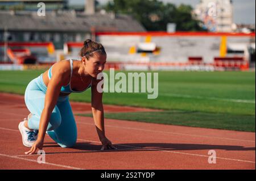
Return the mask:
<svg viewBox="0 0 256 181">
<path fill-rule="evenodd" d="M 64 73 L 57 72 L 52 76 L 51 80 L 48 83 L 46 98 L 44 100 L 44 108 L 41 113 L 40 123 L 39 123 L 39 132 L 38 138 L 35 141 L 35 144 L 32 145 L 30 151 L 27 151 L 26 154 L 34 154 L 36 150 L 43 148 L 44 137 L 46 136 L 46 130 L 48 127 L 49 119 L 53 108 L 57 103 L 57 99 L 60 94 L 61 86 L 63 85 L 63 80 L 65 79 Z"/>
</svg>

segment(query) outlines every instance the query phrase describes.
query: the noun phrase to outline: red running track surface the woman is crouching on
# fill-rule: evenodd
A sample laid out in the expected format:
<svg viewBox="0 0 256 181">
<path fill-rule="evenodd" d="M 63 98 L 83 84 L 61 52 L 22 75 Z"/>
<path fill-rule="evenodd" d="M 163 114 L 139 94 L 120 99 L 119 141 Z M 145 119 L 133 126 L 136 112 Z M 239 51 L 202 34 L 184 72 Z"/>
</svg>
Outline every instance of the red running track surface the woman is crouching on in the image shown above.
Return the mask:
<svg viewBox="0 0 256 181">
<path fill-rule="evenodd" d="M 0 169 L 255 169 L 255 133 L 105 119 L 106 135 L 118 149 L 101 151 L 93 119 L 81 116 L 75 116 L 76 146 L 60 148 L 46 136 L 46 163 L 39 164 L 39 155 L 24 154 L 18 131 L 29 113 L 23 96 L 0 94 L 0 103 Z M 76 103 L 72 108 L 90 111 Z M 208 163 L 209 150 L 216 151 L 216 163 Z"/>
</svg>

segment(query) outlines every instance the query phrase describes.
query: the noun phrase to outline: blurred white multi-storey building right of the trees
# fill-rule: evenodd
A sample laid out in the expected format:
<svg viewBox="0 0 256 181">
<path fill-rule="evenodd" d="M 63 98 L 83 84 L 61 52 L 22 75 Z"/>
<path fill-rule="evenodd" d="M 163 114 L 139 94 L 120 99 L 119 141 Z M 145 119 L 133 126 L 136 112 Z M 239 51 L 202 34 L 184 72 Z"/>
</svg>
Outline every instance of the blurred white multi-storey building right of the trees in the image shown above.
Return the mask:
<svg viewBox="0 0 256 181">
<path fill-rule="evenodd" d="M 209 31 L 232 32 L 232 0 L 201 0 L 194 14 Z"/>
</svg>

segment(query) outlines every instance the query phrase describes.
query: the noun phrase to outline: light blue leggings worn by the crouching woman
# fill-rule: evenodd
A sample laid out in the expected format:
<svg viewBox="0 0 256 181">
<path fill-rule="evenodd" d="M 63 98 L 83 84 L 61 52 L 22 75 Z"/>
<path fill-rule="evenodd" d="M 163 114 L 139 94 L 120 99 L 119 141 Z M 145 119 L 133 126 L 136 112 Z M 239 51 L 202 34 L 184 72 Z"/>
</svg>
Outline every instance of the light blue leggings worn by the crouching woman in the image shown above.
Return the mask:
<svg viewBox="0 0 256 181">
<path fill-rule="evenodd" d="M 30 129 L 39 129 L 46 89 L 47 87 L 43 82 L 43 74 L 33 79 L 27 86 L 25 103 L 32 113 L 32 117 L 28 120 Z M 70 148 L 76 144 L 77 127 L 68 96 L 59 96 L 49 119 L 47 134 L 62 148 Z"/>
</svg>

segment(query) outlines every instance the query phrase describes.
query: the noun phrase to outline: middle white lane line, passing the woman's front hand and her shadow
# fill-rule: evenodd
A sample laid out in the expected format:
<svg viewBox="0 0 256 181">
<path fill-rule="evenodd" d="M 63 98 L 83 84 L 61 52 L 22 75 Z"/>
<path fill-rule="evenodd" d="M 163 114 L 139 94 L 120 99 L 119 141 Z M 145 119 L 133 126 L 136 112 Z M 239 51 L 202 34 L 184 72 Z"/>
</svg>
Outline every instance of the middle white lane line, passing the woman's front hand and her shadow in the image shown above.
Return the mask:
<svg viewBox="0 0 256 181">
<path fill-rule="evenodd" d="M 2 128 L 0 128 L 2 129 Z M 7 128 L 4 128 L 6 130 L 9 130 L 9 131 L 18 131 L 18 130 L 15 130 L 15 129 L 7 129 Z M 96 143 L 99 143 L 101 144 L 100 141 L 92 141 L 92 140 L 85 140 L 85 139 L 80 139 L 78 138 L 77 140 L 79 141 L 89 141 L 89 142 L 96 142 Z M 186 154 L 186 155 L 192 155 L 192 156 L 198 156 L 198 157 L 208 157 L 209 158 L 209 155 L 201 155 L 201 154 L 192 154 L 192 153 L 184 153 L 184 152 L 179 152 L 179 151 L 169 151 L 169 150 L 162 150 L 162 149 L 154 149 L 154 148 L 141 148 L 141 147 L 138 147 L 138 146 L 130 146 L 130 145 L 122 145 L 122 144 L 114 144 L 114 145 L 118 145 L 118 146 L 125 146 L 125 147 L 129 147 L 131 149 L 142 149 L 142 150 L 154 150 L 154 151 L 163 151 L 163 152 L 168 152 L 168 153 L 176 153 L 176 154 Z M 118 149 L 117 149 L 118 151 Z M 17 155 L 17 156 L 10 156 L 10 157 L 17 157 L 18 156 L 20 157 L 20 155 Z M 233 158 L 224 158 L 224 157 L 216 157 L 218 159 L 226 159 L 226 160 L 230 160 L 230 161 L 239 161 L 239 162 L 248 162 L 248 163 L 255 163 L 253 161 L 246 161 L 246 160 L 242 160 L 242 159 L 233 159 Z"/>
</svg>

